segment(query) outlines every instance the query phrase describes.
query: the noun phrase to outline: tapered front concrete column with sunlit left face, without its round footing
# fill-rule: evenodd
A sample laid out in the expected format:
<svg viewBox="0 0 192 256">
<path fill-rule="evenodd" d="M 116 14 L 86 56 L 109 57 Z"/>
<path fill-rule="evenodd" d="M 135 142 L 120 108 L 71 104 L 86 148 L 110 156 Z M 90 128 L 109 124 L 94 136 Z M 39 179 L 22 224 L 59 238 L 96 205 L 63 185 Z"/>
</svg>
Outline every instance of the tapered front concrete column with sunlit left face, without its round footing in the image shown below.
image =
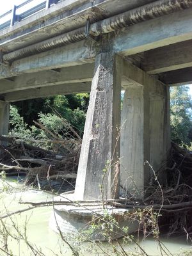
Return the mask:
<svg viewBox="0 0 192 256">
<path fill-rule="evenodd" d="M 77 172 L 75 198 L 118 198 L 120 157 L 120 57 L 101 53 L 95 60 L 90 104 Z"/>
</svg>

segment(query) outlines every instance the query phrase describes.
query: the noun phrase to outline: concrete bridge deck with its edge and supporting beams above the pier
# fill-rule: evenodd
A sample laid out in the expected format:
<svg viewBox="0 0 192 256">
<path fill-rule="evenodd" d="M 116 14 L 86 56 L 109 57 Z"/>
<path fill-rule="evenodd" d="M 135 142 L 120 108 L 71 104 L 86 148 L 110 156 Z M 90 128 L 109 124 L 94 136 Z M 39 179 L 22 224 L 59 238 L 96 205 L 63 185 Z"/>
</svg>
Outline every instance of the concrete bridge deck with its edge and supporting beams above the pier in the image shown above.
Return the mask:
<svg viewBox="0 0 192 256">
<path fill-rule="evenodd" d="M 144 8 L 145 4 L 152 2 L 63 0 L 47 10 L 16 22 L 12 28 L 0 31 L 0 49 L 4 56 L 53 36 L 67 35 L 74 29 L 85 29 L 88 18 L 94 28 L 101 20 L 141 6 Z M 176 10 L 143 22 L 140 20 L 128 28 L 110 33 L 111 51 L 135 65 L 138 72 L 144 70 L 147 74 L 155 75 L 164 84 L 191 83 L 191 24 L 192 8 Z M 44 51 L 42 47 L 42 52 L 10 61 L 9 65 L 0 65 L 1 99 L 13 101 L 31 99 L 37 95 L 44 97 L 52 92 L 52 86 L 55 93 L 61 93 L 62 84 L 63 93 L 89 91 L 93 62 L 100 51 L 100 40 L 78 41 L 52 47 L 49 51 Z M 73 77 L 69 74 L 73 74 Z M 136 80 L 136 76 L 125 77 L 122 86 Z"/>
</svg>

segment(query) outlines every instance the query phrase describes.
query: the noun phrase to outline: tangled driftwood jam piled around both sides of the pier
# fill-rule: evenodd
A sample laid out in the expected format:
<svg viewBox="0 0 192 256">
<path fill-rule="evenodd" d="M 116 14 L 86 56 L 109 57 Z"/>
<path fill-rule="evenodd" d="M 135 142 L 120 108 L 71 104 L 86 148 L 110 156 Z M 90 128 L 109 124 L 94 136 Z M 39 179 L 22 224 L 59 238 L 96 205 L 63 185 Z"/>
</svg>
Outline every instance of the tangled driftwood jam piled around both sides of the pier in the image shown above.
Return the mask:
<svg viewBox="0 0 192 256">
<path fill-rule="evenodd" d="M 42 129 L 44 128 L 42 127 Z M 51 136 L 51 133 L 49 135 Z M 54 136 L 53 140 L 46 140 L 46 143 L 51 143 L 52 141 L 52 143 L 60 144 L 61 148 L 65 149 L 57 152 L 36 147 L 36 145 L 29 145 L 19 138 L 0 136 L 0 141 L 3 141 L 2 145 L 0 145 L 0 170 L 6 173 L 25 172 L 27 184 L 36 184 L 38 188 L 52 190 L 50 184 L 53 180 L 56 182 L 60 181 L 65 186 L 72 180 L 74 182 L 76 179 L 81 146 L 81 140 L 79 138 L 77 140 L 74 138 L 72 140 L 62 140 Z M 67 149 L 68 147 L 70 150 Z M 187 223 L 187 220 L 191 220 L 192 212 L 192 154 L 173 143 L 167 167 L 165 170 L 159 170 L 160 172 L 164 173 L 166 186 L 159 186 L 156 177 L 154 177 L 150 183 L 151 186 L 148 186 L 146 189 L 143 199 L 138 200 L 138 202 L 132 202 L 131 198 L 103 202 L 102 200 L 68 202 L 63 197 L 63 200 L 60 202 L 22 202 L 22 204 L 31 204 L 32 206 L 21 210 L 21 212 L 29 211 L 34 207 L 53 204 L 81 204 L 84 207 L 87 205 L 103 204 L 136 210 L 150 208 L 152 211 L 162 214 L 159 221 L 166 222 L 166 225 L 170 227 L 170 234 L 180 232 L 183 228 L 190 230 L 192 228 L 192 221 L 191 223 L 190 221 Z M 49 186 L 44 186 L 45 182 L 48 182 Z M 74 188 L 71 186 L 68 189 Z M 166 214 L 164 214 L 165 212 Z M 12 212 L 10 215 L 1 217 L 6 218 L 17 213 L 20 213 L 20 211 Z"/>
</svg>

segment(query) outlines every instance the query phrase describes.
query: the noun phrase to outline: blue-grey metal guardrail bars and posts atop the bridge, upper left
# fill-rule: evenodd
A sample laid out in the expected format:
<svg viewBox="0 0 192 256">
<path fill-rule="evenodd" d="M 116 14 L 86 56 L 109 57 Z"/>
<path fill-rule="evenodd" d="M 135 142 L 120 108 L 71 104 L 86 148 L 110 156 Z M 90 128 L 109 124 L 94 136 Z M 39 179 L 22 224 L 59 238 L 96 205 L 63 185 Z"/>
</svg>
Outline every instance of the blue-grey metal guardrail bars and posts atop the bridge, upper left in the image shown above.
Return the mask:
<svg viewBox="0 0 192 256">
<path fill-rule="evenodd" d="M 19 4 L 17 6 L 14 5 L 12 10 L 9 10 L 8 12 L 0 15 L 0 30 L 3 30 L 4 28 L 12 27 L 15 24 L 15 22 L 20 22 L 20 20 L 26 19 L 27 17 L 29 17 L 30 15 L 33 15 L 36 12 L 39 12 L 44 9 L 48 9 L 52 4 L 57 4 L 61 0 L 45 0 L 42 3 L 37 4 L 33 8 L 30 8 L 25 12 L 17 15 L 17 10 L 19 8 L 26 6 L 27 4 L 32 3 L 33 1 L 34 0 L 26 0 L 22 4 Z M 10 16 L 11 18 L 1 23 L 1 19 L 5 19 L 8 16 Z"/>
</svg>

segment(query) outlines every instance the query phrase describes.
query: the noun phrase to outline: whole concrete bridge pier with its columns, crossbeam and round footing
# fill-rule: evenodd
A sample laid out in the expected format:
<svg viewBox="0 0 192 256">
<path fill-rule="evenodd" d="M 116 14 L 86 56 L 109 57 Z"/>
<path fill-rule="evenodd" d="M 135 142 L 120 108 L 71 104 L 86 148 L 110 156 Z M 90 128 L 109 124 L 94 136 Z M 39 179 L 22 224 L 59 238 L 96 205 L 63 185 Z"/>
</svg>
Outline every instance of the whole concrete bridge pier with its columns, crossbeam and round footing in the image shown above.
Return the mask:
<svg viewBox="0 0 192 256">
<path fill-rule="evenodd" d="M 122 84 L 125 97 L 120 127 Z M 77 232 L 87 228 L 93 216 L 107 211 L 120 227 L 128 226 L 129 232 L 137 230 L 138 222 L 129 221 L 124 215 L 128 209 L 102 202 L 119 198 L 122 191 L 134 198 L 143 197 L 154 175 L 144 162 L 148 161 L 154 171 L 166 164 L 170 141 L 168 104 L 168 87 L 163 83 L 112 52 L 97 55 L 76 189 L 73 194 L 63 195 L 80 205 L 56 205 L 53 229 L 58 225 L 61 232 Z M 158 179 L 163 184 L 162 173 Z M 122 191 L 120 184 L 124 186 Z M 55 216 L 57 225 L 53 224 Z M 92 238 L 105 239 L 101 233 L 97 230 Z M 119 229 L 114 234 L 121 236 Z"/>
</svg>

